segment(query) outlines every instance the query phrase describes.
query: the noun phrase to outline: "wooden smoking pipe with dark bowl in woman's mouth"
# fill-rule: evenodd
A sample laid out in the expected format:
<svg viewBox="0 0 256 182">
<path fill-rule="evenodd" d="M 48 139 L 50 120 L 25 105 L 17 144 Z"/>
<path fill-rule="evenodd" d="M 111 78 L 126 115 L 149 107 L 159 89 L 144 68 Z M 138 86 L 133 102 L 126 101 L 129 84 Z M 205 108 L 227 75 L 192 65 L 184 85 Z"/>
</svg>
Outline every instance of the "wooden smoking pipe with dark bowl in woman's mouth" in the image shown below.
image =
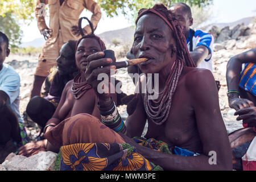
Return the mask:
<svg viewBox="0 0 256 182">
<path fill-rule="evenodd" d="M 106 49 L 103 52 L 105 53 L 106 58 L 111 58 L 112 60 L 114 60 L 114 58 L 115 58 L 114 51 L 112 51 L 110 49 Z M 139 59 L 131 59 L 131 60 L 127 60 L 127 61 L 114 62 L 112 65 L 115 65 L 115 68 L 119 69 L 119 68 L 126 68 L 131 65 L 143 63 L 145 61 L 147 61 L 147 58 L 139 58 Z"/>
</svg>

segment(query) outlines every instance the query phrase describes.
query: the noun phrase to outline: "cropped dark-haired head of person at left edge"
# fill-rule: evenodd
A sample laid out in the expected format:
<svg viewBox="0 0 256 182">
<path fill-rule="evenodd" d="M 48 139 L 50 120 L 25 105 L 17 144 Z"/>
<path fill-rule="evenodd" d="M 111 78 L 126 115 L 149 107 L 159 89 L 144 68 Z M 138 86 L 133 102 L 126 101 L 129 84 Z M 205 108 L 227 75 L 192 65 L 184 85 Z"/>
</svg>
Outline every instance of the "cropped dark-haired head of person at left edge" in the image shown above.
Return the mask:
<svg viewBox="0 0 256 182">
<path fill-rule="evenodd" d="M 9 56 L 10 49 L 9 47 L 9 39 L 5 34 L 0 31 L 0 65 L 3 64 L 5 58 Z"/>
</svg>

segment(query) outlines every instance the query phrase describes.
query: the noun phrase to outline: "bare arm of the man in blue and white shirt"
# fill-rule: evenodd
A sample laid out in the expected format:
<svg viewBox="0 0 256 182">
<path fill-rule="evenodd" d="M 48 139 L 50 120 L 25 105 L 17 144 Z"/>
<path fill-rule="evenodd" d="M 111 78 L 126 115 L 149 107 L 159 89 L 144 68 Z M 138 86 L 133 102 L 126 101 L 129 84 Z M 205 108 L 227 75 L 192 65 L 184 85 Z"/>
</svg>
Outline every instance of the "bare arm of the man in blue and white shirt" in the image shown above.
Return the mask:
<svg viewBox="0 0 256 182">
<path fill-rule="evenodd" d="M 196 66 L 198 66 L 207 58 L 207 56 L 210 54 L 210 51 L 206 46 L 200 45 L 196 47 L 194 51 L 189 53 Z"/>
</svg>

